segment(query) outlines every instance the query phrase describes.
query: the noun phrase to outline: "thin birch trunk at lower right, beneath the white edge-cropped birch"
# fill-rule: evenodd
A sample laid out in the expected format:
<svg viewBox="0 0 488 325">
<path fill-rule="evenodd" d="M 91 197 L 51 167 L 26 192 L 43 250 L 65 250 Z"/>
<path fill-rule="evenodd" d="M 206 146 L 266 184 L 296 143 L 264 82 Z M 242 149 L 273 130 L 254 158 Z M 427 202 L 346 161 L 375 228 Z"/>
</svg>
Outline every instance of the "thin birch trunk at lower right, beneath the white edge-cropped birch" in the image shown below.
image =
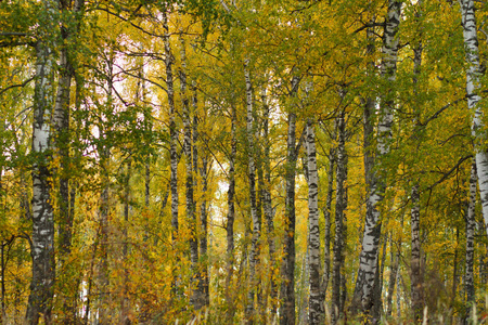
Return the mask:
<svg viewBox="0 0 488 325">
<path fill-rule="evenodd" d="M 474 235 L 476 227 L 476 162 L 471 165 L 470 174 L 470 197 L 466 209 L 466 275 L 465 275 L 465 290 L 466 290 L 466 314 L 465 320 L 471 318 L 471 311 L 475 301 L 474 287 Z"/>
</svg>

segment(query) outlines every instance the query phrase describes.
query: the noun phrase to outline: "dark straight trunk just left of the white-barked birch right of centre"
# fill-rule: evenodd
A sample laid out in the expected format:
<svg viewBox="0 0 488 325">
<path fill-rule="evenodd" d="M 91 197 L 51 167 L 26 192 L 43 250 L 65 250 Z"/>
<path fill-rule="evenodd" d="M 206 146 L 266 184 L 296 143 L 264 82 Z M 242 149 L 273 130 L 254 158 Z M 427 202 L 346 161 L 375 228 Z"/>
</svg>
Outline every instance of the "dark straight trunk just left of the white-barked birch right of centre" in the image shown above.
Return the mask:
<svg viewBox="0 0 488 325">
<path fill-rule="evenodd" d="M 298 77 L 292 79 L 291 96 L 295 96 L 298 89 Z M 280 325 L 295 324 L 295 174 L 297 150 L 296 143 L 296 114 L 295 108 L 288 108 L 288 130 L 286 136 L 286 197 L 285 197 L 285 235 L 284 257 L 281 284 L 282 312 Z"/>
</svg>

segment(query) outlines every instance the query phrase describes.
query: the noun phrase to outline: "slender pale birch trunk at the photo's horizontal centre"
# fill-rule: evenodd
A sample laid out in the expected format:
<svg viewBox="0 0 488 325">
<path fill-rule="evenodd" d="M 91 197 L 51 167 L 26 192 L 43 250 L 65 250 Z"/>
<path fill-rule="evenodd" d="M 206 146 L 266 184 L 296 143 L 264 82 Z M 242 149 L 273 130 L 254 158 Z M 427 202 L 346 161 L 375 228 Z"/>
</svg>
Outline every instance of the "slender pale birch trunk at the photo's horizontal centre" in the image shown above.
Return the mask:
<svg viewBox="0 0 488 325">
<path fill-rule="evenodd" d="M 256 162 L 255 162 L 255 144 L 254 144 L 254 110 L 253 110 L 253 84 L 248 70 L 248 61 L 244 65 L 244 78 L 246 81 L 246 131 L 247 131 L 247 161 L 248 161 L 248 179 L 249 179 L 249 205 L 251 218 L 253 221 L 253 237 L 251 242 L 249 252 L 249 288 L 247 294 L 246 306 L 246 323 L 253 324 L 255 318 L 254 296 L 257 287 L 256 265 L 258 262 L 258 240 L 261 231 L 261 221 L 258 218 L 256 206 Z"/>
</svg>

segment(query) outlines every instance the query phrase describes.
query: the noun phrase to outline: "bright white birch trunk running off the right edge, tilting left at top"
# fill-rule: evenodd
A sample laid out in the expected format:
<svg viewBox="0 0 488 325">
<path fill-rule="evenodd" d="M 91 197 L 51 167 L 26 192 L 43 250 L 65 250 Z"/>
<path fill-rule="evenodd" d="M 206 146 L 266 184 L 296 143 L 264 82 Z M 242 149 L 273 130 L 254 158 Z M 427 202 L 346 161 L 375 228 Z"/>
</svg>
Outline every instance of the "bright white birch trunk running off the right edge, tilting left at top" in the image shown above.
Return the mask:
<svg viewBox="0 0 488 325">
<path fill-rule="evenodd" d="M 485 123 L 483 121 L 483 108 L 478 105 L 481 100 L 479 95 L 480 87 L 480 64 L 478 36 L 476 32 L 476 16 L 474 0 L 461 0 L 461 15 L 464 37 L 464 50 L 466 55 L 466 98 L 467 108 L 472 112 L 472 134 L 475 139 L 474 147 L 476 152 L 476 170 L 479 184 L 479 197 L 481 199 L 483 218 L 485 219 L 485 230 L 488 233 L 488 152 L 484 147 L 486 139 Z"/>
</svg>

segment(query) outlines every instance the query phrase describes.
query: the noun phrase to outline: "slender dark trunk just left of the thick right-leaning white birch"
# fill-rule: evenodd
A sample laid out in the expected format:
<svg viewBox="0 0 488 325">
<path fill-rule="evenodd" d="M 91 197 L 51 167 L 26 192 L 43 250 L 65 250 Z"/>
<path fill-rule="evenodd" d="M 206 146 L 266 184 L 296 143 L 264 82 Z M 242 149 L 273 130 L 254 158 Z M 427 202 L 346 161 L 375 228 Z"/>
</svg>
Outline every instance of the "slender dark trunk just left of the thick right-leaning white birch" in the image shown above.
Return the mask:
<svg viewBox="0 0 488 325">
<path fill-rule="evenodd" d="M 346 119 L 345 110 L 341 112 L 337 117 L 337 173 L 336 173 L 336 200 L 335 200 L 335 237 L 334 237 L 334 260 L 332 270 L 332 323 L 335 324 L 339 320 L 342 313 L 341 303 L 341 282 L 342 282 L 342 265 L 344 261 L 343 252 L 343 221 L 346 210 L 346 172 L 347 172 L 347 157 L 346 157 Z"/>
</svg>

